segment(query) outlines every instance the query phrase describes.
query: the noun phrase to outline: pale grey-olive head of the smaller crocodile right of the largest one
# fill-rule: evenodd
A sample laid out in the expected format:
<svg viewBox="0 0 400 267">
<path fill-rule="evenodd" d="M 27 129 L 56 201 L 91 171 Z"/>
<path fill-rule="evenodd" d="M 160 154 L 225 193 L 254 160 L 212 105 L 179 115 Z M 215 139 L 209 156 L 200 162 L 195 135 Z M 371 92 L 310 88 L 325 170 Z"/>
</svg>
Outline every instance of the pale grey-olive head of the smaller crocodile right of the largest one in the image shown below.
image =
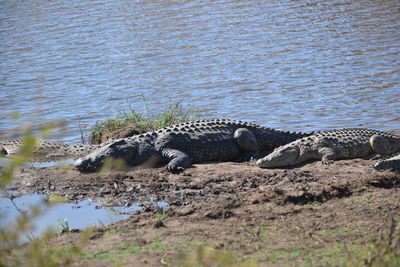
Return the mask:
<svg viewBox="0 0 400 267">
<path fill-rule="evenodd" d="M 257 161 L 261 168 L 274 168 L 295 165 L 299 163 L 300 148 L 297 146 L 283 146 L 276 148 L 271 154 Z"/>
</svg>

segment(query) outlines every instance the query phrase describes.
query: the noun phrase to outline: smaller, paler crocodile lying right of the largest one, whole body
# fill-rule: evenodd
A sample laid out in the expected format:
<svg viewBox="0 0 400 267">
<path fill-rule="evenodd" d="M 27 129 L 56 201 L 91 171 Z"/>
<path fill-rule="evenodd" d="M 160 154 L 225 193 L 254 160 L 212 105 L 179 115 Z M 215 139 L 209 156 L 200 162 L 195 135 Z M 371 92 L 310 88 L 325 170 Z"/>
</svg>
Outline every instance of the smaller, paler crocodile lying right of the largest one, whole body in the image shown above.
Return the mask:
<svg viewBox="0 0 400 267">
<path fill-rule="evenodd" d="M 370 154 L 390 155 L 400 151 L 400 136 L 371 129 L 342 129 L 316 132 L 276 148 L 259 159 L 261 168 L 297 165 L 321 159 L 323 164 L 336 159 L 362 158 Z"/>
</svg>

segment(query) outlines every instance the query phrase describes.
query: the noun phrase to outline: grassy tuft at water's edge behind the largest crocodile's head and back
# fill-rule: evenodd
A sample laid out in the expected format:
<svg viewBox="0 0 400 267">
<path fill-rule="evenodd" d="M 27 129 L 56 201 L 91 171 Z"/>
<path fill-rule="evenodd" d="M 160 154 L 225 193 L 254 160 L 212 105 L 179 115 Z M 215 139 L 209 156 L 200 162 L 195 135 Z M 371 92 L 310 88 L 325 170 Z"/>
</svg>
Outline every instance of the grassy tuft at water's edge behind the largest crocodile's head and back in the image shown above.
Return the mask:
<svg viewBox="0 0 400 267">
<path fill-rule="evenodd" d="M 182 100 L 170 101 L 164 110 L 156 114 L 150 112 L 143 95 L 142 100 L 145 105 L 144 114 L 137 112 L 132 103 L 128 101 L 126 111 L 120 111 L 115 118 L 97 122 L 90 132 L 91 143 L 99 144 L 110 139 L 154 131 L 176 123 L 198 120 L 202 117 L 201 110 L 194 108 L 193 105 L 185 105 Z"/>
</svg>

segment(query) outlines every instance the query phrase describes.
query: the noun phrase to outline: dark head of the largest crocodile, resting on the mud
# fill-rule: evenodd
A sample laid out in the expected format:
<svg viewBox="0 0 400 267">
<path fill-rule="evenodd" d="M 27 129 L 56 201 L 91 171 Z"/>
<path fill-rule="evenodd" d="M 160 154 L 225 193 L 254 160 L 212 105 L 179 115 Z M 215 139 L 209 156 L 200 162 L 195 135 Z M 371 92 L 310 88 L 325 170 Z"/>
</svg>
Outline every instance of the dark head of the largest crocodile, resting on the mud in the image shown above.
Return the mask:
<svg viewBox="0 0 400 267">
<path fill-rule="evenodd" d="M 128 143 L 124 139 L 116 140 L 93 151 L 89 155 L 78 159 L 75 166 L 81 172 L 95 172 L 104 167 L 123 167 L 130 165 L 137 155 L 135 143 Z M 109 163 L 109 166 L 108 164 Z"/>
</svg>

